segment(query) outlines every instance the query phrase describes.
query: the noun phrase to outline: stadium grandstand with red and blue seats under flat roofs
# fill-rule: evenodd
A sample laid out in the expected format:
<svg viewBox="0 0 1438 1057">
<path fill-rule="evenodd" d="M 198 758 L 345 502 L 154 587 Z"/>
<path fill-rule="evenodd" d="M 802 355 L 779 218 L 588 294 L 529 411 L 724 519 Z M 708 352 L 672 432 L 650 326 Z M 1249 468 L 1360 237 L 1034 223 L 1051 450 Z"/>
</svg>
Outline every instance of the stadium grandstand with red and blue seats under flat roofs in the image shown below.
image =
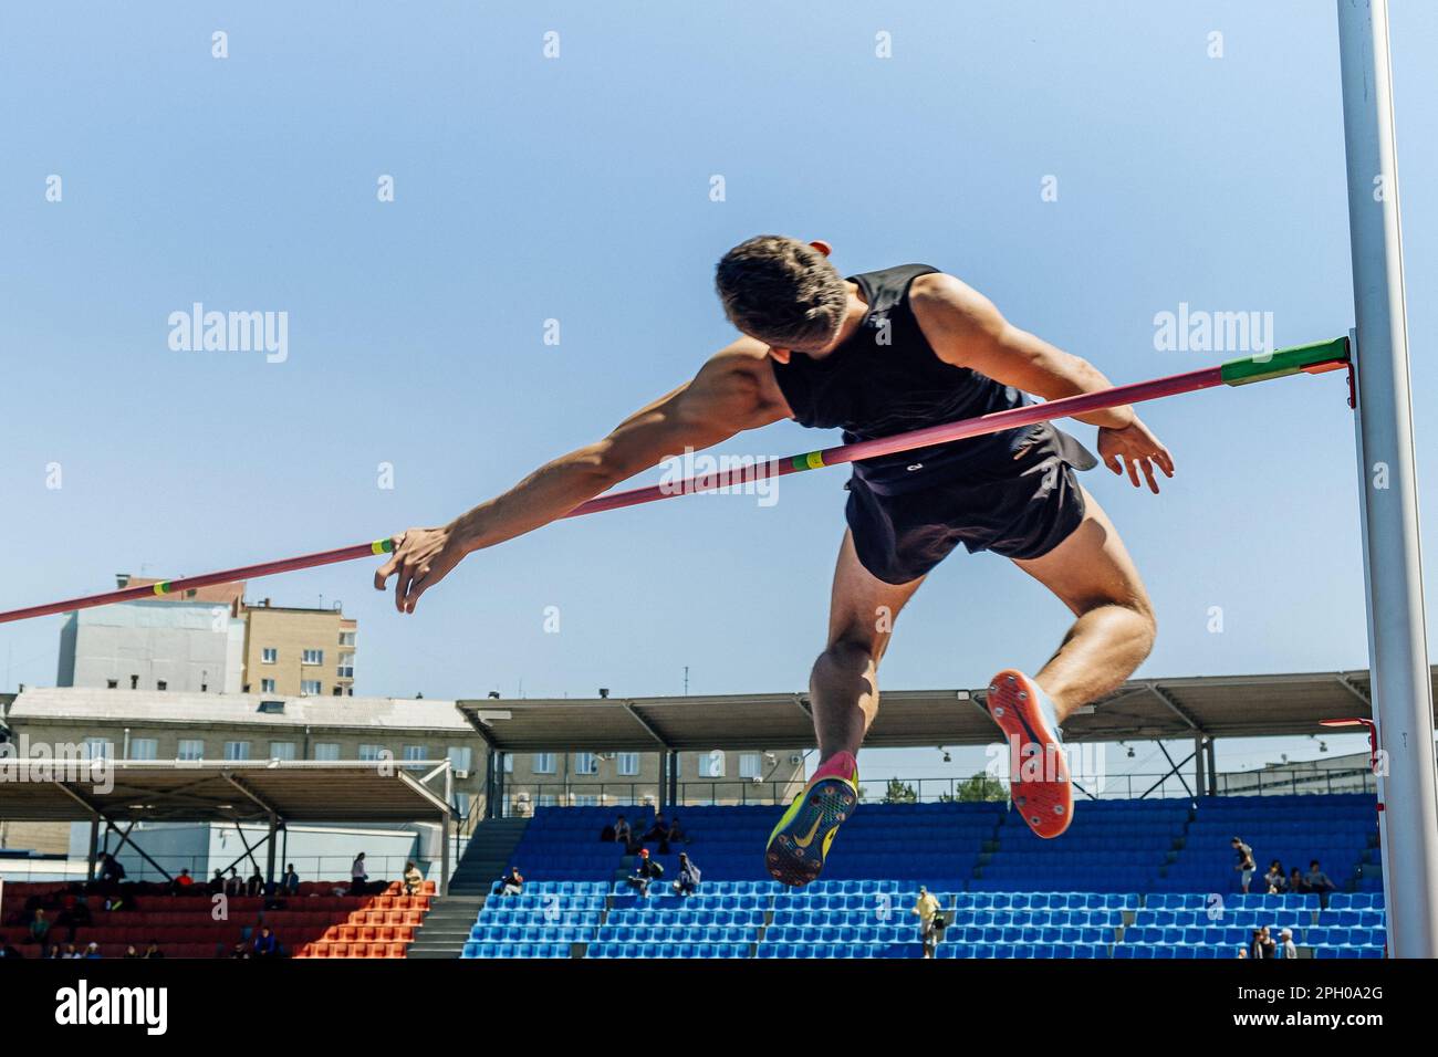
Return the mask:
<svg viewBox="0 0 1438 1057">
<path fill-rule="evenodd" d="M 27 729 L 27 716 L 33 723 L 46 710 L 65 710 L 65 692 L 30 693 L 30 706 L 24 696 L 9 702 L 12 738 Z M 777 805 L 795 788 L 792 775 L 771 785 L 746 782 L 754 792 L 731 795 L 718 782 L 680 782 L 677 767 L 683 754 L 808 743 L 802 693 L 429 703 L 426 716 L 452 716 L 447 739 L 463 729 L 482 745 L 469 777 L 479 792 L 467 821 L 454 811 L 449 759 L 407 759 L 398 768 L 375 761 L 106 759 L 112 781 L 104 795 L 83 774 L 6 788 L 6 820 L 88 823 L 91 843 L 78 880 L 6 884 L 0 933 L 22 953 L 37 955 L 42 946 L 24 939 L 35 910 L 46 909 L 52 922 L 60 920 L 52 925 L 52 946 L 96 943 L 102 956 L 155 942 L 171 958 L 223 958 L 236 945 L 252 946 L 267 928 L 296 958 L 922 958 L 913 910 L 923 886 L 942 922 L 933 949 L 939 958 L 1240 958 L 1252 956 L 1265 928 L 1274 941 L 1291 938 L 1297 956 L 1382 958 L 1378 781 L 1366 755 L 1327 769 L 1219 774 L 1214 767 L 1221 738 L 1301 736 L 1326 722 L 1360 720 L 1369 715 L 1366 693 L 1365 672 L 1130 683 L 1073 718 L 1070 749 L 1102 758 L 1103 746 L 1119 741 L 1192 739 L 1192 751 L 1158 781 L 1135 787 L 1125 775 L 1117 795 L 1102 781 L 1080 781 L 1084 798 L 1074 823 L 1054 841 L 1032 836 L 997 781 L 925 795 L 899 782 L 897 797 L 892 787 L 874 787 L 838 836 L 823 879 L 804 889 L 771 880 L 762 856 Z M 883 748 L 988 745 L 982 695 L 893 692 L 870 741 Z M 105 696 L 109 722 L 135 722 L 125 712 L 129 692 Z M 237 729 L 244 702 L 223 697 L 227 710 L 203 722 L 223 719 Z M 360 710 L 349 722 L 378 729 L 398 729 L 397 718 L 411 708 L 354 700 Z M 292 702 L 285 715 L 299 720 L 302 708 Z M 135 713 L 157 722 L 154 709 L 139 702 Z M 276 722 L 273 709 L 257 712 L 265 723 Z M 380 736 L 351 735 L 357 742 Z M 660 761 L 650 791 L 575 785 L 592 791 L 581 801 L 506 785 L 513 754 L 638 751 Z M 890 802 L 896 800 L 902 802 Z M 659 836 L 659 817 L 680 808 L 683 831 Z M 636 838 L 601 841 L 618 814 Z M 234 827 L 246 840 L 242 857 L 263 877 L 259 894 L 227 900 L 224 920 L 214 920 L 210 900 L 194 897 L 203 883 L 178 892 L 174 870 L 141 847 L 147 834 L 181 820 Z M 447 838 L 427 864 L 430 877 L 413 892 L 384 880 L 354 894 L 344 870 L 278 892 L 276 863 L 288 860 L 278 838 L 319 820 L 437 820 Z M 250 833 L 259 827 L 253 846 L 244 825 Z M 109 897 L 118 889 L 106 886 L 102 870 L 111 836 L 119 841 L 116 854 L 155 877 L 129 886 L 116 909 Z M 1247 893 L 1235 869 L 1235 836 L 1257 860 Z M 663 870 L 647 893 L 633 880 L 641 847 Z M 702 870 L 690 894 L 672 886 L 680 853 Z M 1268 893 L 1261 874 L 1270 863 L 1281 863 L 1287 874 L 1307 871 L 1314 860 L 1332 890 Z M 36 876 L 33 869 L 14 873 L 16 863 L 0 856 L 0 877 Z M 523 883 L 503 893 L 496 882 L 509 867 L 521 870 Z M 79 896 L 86 910 L 70 929 Z"/>
</svg>

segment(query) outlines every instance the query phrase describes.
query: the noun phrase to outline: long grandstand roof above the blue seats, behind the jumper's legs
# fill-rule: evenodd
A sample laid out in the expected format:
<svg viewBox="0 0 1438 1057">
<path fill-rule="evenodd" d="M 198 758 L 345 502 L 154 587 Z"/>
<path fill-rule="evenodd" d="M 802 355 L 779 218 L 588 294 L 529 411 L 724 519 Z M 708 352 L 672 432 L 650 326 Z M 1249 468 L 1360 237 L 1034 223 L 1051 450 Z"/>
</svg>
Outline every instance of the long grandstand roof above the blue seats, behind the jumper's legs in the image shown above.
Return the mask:
<svg viewBox="0 0 1438 1057">
<path fill-rule="evenodd" d="M 988 745 L 984 689 L 884 690 L 867 748 Z M 1435 690 L 1438 699 L 1438 690 Z M 683 697 L 460 700 L 503 752 L 774 749 L 814 743 L 807 693 Z M 1064 723 L 1070 742 L 1255 738 L 1319 732 L 1323 719 L 1369 718 L 1369 674 L 1137 679 Z"/>
</svg>

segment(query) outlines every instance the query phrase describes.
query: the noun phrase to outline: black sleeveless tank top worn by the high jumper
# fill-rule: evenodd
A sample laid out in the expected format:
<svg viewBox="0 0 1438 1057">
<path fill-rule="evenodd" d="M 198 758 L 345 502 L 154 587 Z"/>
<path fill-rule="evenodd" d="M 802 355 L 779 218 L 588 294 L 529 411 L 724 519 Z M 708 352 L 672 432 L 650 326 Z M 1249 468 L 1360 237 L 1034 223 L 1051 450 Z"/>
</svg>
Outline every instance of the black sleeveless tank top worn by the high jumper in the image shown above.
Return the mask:
<svg viewBox="0 0 1438 1057">
<path fill-rule="evenodd" d="M 771 361 L 801 426 L 841 429 L 844 443 L 851 444 L 1031 403 L 1012 385 L 946 364 L 935 354 L 909 306 L 909 286 L 938 270 L 899 265 L 850 276 L 869 302 L 858 329 L 825 357 L 795 352 L 787 364 Z M 1011 463 L 1022 447 L 1055 440 L 1054 434 L 1058 430 L 1044 423 L 955 440 L 866 459 L 854 463 L 854 475 L 874 492 L 889 495 L 982 479 Z"/>
</svg>

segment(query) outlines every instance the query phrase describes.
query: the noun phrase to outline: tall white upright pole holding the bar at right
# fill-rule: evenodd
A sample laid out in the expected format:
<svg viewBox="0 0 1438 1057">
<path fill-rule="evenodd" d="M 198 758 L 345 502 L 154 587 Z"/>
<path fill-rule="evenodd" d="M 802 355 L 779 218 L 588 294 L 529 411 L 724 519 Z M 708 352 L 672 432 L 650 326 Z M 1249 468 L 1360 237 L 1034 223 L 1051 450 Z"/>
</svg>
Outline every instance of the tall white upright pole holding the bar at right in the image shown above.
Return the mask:
<svg viewBox="0 0 1438 1057">
<path fill-rule="evenodd" d="M 1337 0 L 1388 949 L 1438 956 L 1438 768 L 1424 626 L 1388 0 Z"/>
</svg>

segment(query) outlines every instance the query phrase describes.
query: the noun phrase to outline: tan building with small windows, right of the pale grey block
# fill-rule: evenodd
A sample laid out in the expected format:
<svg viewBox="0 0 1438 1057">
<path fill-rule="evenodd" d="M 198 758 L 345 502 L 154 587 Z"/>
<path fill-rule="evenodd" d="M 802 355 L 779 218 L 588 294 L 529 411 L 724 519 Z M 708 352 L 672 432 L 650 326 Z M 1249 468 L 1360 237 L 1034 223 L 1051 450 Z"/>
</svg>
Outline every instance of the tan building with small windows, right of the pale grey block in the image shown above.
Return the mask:
<svg viewBox="0 0 1438 1057">
<path fill-rule="evenodd" d="M 349 697 L 358 624 L 339 610 L 246 605 L 244 693 Z"/>
</svg>

